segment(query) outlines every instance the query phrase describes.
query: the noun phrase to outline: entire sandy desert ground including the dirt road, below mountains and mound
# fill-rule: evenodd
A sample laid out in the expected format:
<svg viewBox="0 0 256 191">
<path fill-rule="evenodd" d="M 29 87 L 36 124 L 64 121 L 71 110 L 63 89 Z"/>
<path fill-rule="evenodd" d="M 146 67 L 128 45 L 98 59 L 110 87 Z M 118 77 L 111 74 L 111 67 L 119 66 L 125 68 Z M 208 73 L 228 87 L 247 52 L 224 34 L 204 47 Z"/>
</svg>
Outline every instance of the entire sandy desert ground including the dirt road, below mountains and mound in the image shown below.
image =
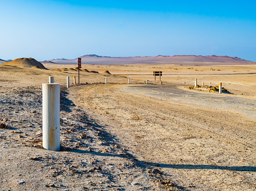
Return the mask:
<svg viewBox="0 0 256 191">
<path fill-rule="evenodd" d="M 70 88 L 78 72 L 57 69 L 76 65 L 44 66 L 0 65 L 0 190 L 256 190 L 256 65 L 83 65 L 99 73 Z M 60 152 L 41 147 L 49 76 Z M 229 93 L 185 88 L 195 78 Z"/>
</svg>

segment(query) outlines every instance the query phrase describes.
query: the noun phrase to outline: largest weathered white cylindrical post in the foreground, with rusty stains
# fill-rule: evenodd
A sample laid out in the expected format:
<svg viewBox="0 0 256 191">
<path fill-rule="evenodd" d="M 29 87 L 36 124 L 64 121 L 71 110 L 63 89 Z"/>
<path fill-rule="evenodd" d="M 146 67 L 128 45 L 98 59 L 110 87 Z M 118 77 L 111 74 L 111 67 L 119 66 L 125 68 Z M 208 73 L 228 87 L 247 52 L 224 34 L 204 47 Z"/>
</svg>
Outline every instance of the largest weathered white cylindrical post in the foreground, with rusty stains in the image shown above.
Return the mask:
<svg viewBox="0 0 256 191">
<path fill-rule="evenodd" d="M 43 84 L 43 148 L 59 151 L 60 85 Z"/>
</svg>

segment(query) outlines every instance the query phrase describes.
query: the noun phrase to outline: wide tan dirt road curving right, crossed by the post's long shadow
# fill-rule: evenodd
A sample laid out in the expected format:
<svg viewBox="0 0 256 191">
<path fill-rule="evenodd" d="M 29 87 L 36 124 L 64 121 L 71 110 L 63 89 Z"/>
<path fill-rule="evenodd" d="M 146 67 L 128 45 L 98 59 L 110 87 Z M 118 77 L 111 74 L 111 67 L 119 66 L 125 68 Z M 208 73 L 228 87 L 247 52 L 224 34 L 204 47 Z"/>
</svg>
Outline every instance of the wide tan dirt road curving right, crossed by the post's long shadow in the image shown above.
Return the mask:
<svg viewBox="0 0 256 191">
<path fill-rule="evenodd" d="M 256 190 L 255 98 L 180 86 L 81 88 L 70 97 L 141 165 L 190 190 Z"/>
</svg>

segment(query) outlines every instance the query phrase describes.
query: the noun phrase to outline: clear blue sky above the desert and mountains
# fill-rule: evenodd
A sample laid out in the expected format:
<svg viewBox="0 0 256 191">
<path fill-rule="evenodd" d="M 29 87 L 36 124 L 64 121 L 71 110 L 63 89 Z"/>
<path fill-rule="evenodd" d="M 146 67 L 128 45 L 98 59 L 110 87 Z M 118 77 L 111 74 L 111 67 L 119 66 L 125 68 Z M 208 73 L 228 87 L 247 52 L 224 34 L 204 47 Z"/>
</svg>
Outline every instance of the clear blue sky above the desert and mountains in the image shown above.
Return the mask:
<svg viewBox="0 0 256 191">
<path fill-rule="evenodd" d="M 256 61 L 256 1 L 0 0 L 0 59 L 227 55 Z"/>
</svg>

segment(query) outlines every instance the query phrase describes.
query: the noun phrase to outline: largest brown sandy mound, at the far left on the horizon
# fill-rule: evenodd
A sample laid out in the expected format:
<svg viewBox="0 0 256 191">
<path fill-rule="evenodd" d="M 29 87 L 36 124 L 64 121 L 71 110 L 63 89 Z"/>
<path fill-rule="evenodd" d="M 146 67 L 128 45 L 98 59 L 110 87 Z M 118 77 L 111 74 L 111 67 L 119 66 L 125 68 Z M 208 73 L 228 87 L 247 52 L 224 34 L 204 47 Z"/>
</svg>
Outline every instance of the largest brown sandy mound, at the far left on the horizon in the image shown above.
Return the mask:
<svg viewBox="0 0 256 191">
<path fill-rule="evenodd" d="M 43 64 L 36 61 L 35 59 L 32 59 L 32 57 L 26 58 L 23 57 L 21 59 L 15 59 L 11 62 L 5 62 L 3 65 L 13 65 L 15 67 L 30 67 L 30 68 L 40 68 L 47 70 Z"/>
</svg>

